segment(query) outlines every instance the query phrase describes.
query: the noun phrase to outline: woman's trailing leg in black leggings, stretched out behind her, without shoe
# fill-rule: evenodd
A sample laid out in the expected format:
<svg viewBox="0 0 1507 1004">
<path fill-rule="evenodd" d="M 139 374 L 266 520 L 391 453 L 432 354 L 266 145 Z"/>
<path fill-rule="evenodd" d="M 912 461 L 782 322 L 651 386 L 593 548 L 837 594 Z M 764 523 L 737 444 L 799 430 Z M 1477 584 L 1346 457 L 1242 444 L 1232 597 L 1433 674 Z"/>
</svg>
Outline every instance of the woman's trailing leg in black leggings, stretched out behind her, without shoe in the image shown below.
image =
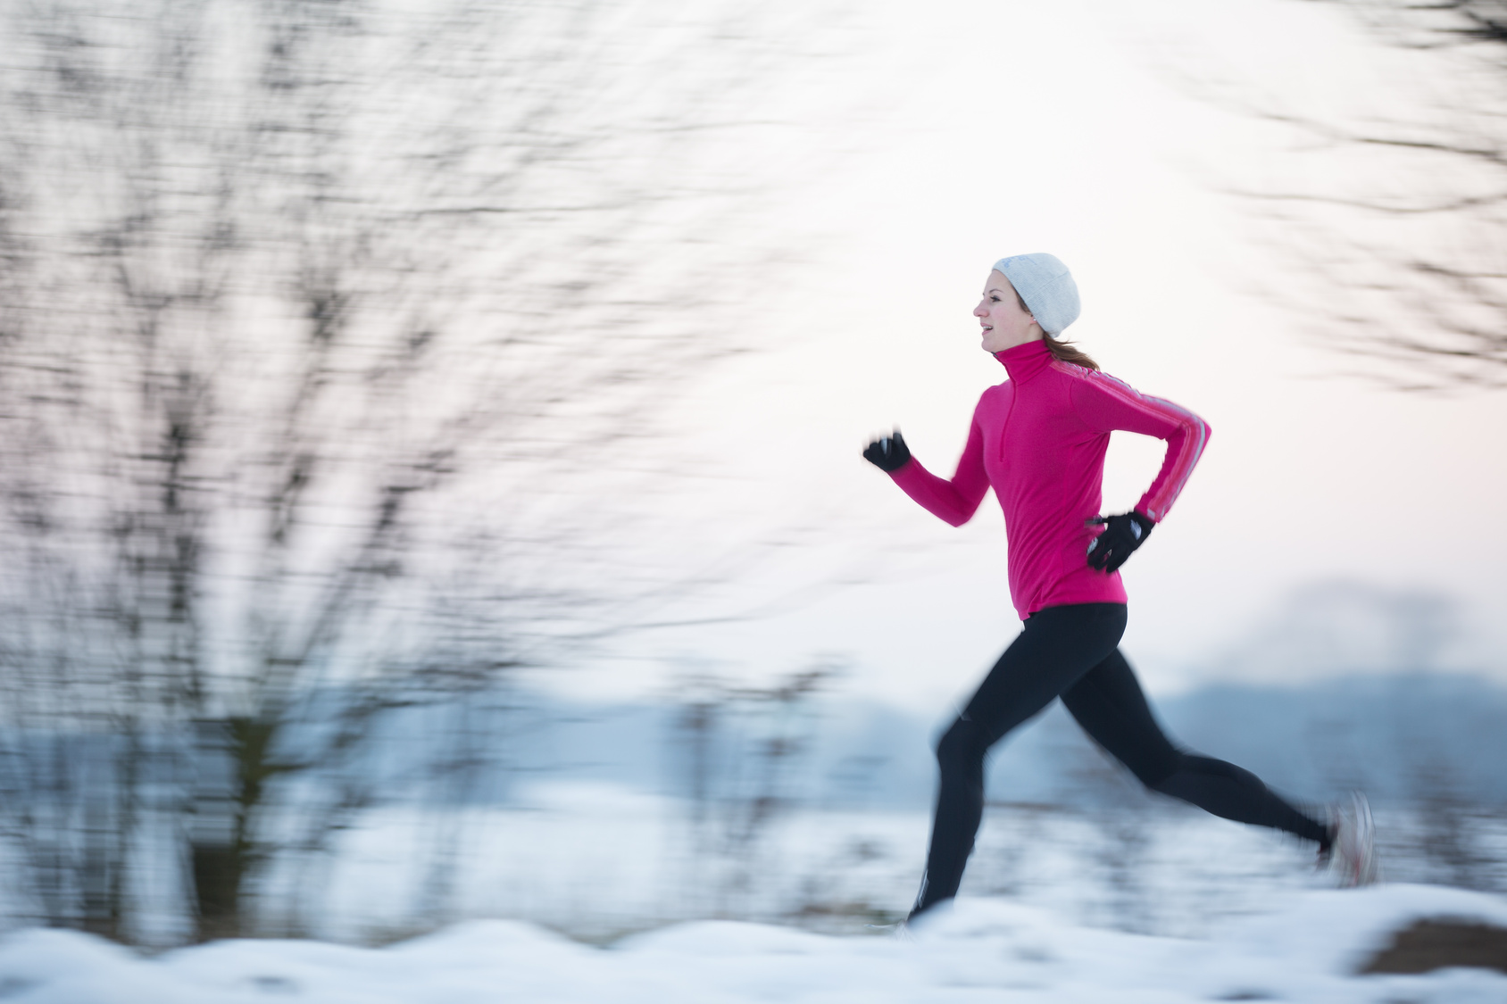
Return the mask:
<svg viewBox="0 0 1507 1004">
<path fill-rule="evenodd" d="M 1174 746 L 1118 648 L 1064 690 L 1062 704 L 1096 743 L 1153 791 L 1237 823 L 1285 829 L 1328 846 L 1329 832 L 1322 823 L 1293 808 L 1249 770 Z"/>
</svg>

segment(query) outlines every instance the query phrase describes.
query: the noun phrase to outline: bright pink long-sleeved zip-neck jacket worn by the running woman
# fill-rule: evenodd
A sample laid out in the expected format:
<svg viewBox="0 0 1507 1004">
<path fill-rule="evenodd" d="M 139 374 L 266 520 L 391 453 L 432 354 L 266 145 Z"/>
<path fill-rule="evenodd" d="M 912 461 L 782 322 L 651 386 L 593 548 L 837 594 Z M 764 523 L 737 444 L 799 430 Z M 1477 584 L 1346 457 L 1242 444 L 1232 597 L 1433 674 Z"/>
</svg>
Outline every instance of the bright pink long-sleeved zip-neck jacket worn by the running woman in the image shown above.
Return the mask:
<svg viewBox="0 0 1507 1004">
<path fill-rule="evenodd" d="M 1020 620 L 1064 603 L 1124 603 L 1120 573 L 1088 567 L 1087 526 L 1099 516 L 1109 433 L 1166 440 L 1166 458 L 1136 511 L 1160 523 L 1194 472 L 1209 424 L 1171 401 L 1148 398 L 1114 377 L 1058 362 L 1041 341 L 996 353 L 1010 380 L 974 409 L 967 445 L 951 481 L 912 458 L 889 476 L 952 526 L 978 511 L 984 491 L 1005 511 L 1010 597 Z"/>
</svg>

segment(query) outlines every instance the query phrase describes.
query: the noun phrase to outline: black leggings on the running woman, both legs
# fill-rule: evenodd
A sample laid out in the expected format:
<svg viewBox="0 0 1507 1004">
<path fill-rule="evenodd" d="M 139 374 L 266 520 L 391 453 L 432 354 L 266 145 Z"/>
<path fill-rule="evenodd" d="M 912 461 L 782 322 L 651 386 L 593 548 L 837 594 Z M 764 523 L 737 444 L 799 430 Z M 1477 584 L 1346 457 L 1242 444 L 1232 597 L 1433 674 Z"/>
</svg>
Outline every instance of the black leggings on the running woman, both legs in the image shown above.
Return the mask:
<svg viewBox="0 0 1507 1004">
<path fill-rule="evenodd" d="M 937 743 L 942 785 L 912 915 L 957 895 L 984 816 L 984 754 L 1056 696 L 1096 743 L 1153 791 L 1239 823 L 1328 841 L 1320 823 L 1279 799 L 1249 770 L 1185 752 L 1166 739 L 1135 671 L 1117 648 L 1124 630 L 1123 603 L 1049 606 L 1026 620 L 1025 632 Z"/>
</svg>

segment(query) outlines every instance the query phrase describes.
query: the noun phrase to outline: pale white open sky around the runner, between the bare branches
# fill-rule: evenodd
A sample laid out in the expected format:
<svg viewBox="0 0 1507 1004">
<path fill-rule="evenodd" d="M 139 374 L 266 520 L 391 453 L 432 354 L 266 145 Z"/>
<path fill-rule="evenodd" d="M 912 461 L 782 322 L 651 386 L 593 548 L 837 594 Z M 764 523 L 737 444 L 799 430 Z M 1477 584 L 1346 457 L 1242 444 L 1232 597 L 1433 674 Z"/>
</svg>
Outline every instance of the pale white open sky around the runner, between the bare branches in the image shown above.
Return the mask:
<svg viewBox="0 0 1507 1004">
<path fill-rule="evenodd" d="M 686 448 L 723 458 L 681 494 L 687 540 L 787 541 L 728 595 L 802 598 L 747 623 L 648 632 L 564 686 L 653 692 L 675 665 L 763 678 L 835 653 L 851 665 L 844 693 L 936 716 L 964 698 L 1019 630 L 999 507 L 990 496 L 952 529 L 859 452 L 898 425 L 951 475 L 978 395 L 1004 378 L 978 347 L 978 289 L 996 258 L 1037 250 L 1078 279 L 1068 335 L 1213 427 L 1124 570 L 1123 647 L 1150 690 L 1249 677 L 1225 656 L 1293 588 L 1325 579 L 1459 597 L 1466 633 L 1445 663 L 1507 680 L 1507 393 L 1415 396 L 1334 375 L 1344 360 L 1260 295 L 1285 265 L 1249 204 L 1221 191 L 1290 178 L 1293 137 L 1191 93 L 1222 75 L 1313 113 L 1403 107 L 1424 57 L 1293 0 L 865 11 L 864 51 L 832 86 L 874 83 L 879 107 L 832 121 L 842 101 L 812 98 L 811 119 L 750 151 L 790 184 L 761 240 L 800 265 L 758 305 L 766 351 L 683 410 Z M 1299 170 L 1323 179 L 1323 163 Z M 1115 436 L 1106 513 L 1135 502 L 1162 449 Z M 824 585 L 802 592 L 811 583 Z"/>
</svg>

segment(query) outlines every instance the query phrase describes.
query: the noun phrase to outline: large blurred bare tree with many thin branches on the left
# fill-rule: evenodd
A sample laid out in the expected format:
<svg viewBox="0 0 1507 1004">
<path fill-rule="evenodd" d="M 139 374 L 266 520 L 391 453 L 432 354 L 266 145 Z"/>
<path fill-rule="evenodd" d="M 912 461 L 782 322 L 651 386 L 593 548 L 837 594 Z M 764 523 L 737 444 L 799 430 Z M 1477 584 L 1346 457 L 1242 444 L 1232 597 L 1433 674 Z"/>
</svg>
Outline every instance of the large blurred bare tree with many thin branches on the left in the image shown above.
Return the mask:
<svg viewBox="0 0 1507 1004">
<path fill-rule="evenodd" d="M 182 834 L 197 936 L 244 930 L 378 797 L 375 719 L 610 626 L 615 460 L 743 348 L 695 309 L 747 274 L 704 152 L 781 66 L 750 17 L 0 6 L 0 811 L 48 920 L 140 936 Z"/>
</svg>

